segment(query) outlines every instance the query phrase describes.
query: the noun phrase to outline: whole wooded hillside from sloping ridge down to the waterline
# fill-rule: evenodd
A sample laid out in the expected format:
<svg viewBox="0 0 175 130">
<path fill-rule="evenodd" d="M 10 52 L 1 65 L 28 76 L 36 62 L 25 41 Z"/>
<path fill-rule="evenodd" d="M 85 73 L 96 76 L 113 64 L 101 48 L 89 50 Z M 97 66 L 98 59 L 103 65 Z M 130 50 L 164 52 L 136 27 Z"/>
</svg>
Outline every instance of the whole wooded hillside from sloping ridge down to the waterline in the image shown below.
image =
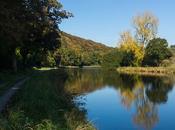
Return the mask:
<svg viewBox="0 0 175 130">
<path fill-rule="evenodd" d="M 103 55 L 111 49 L 102 43 L 61 32 L 59 54 L 63 66 L 101 65 Z"/>
</svg>

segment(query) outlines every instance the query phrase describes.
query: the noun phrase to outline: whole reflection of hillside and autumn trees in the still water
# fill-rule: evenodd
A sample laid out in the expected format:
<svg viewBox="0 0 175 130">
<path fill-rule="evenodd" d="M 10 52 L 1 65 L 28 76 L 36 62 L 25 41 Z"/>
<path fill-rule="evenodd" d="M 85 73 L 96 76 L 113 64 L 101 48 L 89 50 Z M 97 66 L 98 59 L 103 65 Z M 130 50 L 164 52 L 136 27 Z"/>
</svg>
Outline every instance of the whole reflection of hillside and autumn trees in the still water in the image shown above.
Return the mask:
<svg viewBox="0 0 175 130">
<path fill-rule="evenodd" d="M 128 111 L 132 106 L 135 108 L 132 117 L 134 124 L 148 130 L 159 122 L 158 105 L 167 102 L 168 92 L 172 90 L 174 83 L 174 79 L 169 77 L 120 75 L 100 69 L 68 71 L 71 76 L 66 87 L 70 92 L 82 95 L 105 86 L 113 86 L 120 93 L 123 106 Z M 85 106 L 84 103 L 80 105 Z"/>
</svg>

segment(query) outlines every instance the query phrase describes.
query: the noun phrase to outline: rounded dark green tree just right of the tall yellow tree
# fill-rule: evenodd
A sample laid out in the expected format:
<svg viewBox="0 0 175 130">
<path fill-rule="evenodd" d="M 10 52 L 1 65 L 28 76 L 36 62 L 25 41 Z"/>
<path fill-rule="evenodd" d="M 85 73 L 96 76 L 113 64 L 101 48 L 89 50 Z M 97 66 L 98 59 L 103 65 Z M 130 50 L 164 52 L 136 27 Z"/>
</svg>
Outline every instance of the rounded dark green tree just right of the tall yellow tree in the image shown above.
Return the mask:
<svg viewBox="0 0 175 130">
<path fill-rule="evenodd" d="M 144 65 L 159 66 L 159 64 L 172 56 L 165 39 L 156 38 L 151 40 L 145 48 Z"/>
</svg>

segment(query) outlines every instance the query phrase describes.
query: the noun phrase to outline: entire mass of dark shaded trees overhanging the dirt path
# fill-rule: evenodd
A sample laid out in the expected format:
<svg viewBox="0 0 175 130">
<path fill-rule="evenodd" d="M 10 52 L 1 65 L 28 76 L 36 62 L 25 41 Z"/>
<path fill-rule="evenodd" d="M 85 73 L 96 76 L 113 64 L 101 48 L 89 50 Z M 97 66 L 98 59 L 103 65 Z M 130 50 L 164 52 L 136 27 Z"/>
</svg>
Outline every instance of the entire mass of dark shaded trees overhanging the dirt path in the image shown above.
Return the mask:
<svg viewBox="0 0 175 130">
<path fill-rule="evenodd" d="M 59 48 L 59 24 L 72 16 L 57 0 L 0 1 L 0 69 L 47 63 Z"/>
</svg>

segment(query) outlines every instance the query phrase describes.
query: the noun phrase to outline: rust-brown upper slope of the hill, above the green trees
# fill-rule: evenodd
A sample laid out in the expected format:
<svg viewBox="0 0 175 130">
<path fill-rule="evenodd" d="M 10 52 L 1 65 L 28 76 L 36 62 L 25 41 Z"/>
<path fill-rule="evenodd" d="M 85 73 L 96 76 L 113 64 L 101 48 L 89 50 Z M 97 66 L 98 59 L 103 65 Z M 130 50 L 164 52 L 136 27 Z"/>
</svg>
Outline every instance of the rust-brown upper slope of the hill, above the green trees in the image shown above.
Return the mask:
<svg viewBox="0 0 175 130">
<path fill-rule="evenodd" d="M 112 49 L 102 43 L 97 43 L 92 40 L 83 39 L 65 32 L 61 32 L 62 47 L 71 49 L 80 49 L 82 51 L 109 51 Z"/>
</svg>

